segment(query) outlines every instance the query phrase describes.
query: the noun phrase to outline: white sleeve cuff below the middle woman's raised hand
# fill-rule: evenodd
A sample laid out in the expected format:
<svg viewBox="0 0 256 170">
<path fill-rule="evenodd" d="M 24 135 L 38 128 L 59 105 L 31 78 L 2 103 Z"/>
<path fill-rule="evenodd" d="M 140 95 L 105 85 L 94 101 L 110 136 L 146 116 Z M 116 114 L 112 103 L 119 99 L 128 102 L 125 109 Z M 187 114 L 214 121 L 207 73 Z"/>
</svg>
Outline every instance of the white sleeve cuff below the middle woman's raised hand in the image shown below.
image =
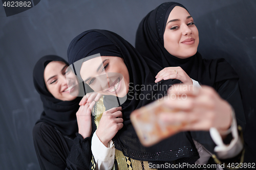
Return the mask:
<svg viewBox="0 0 256 170">
<path fill-rule="evenodd" d="M 99 140 L 95 131 L 92 137 L 92 154 L 95 159 L 95 162 L 113 160 L 114 163 L 115 145 L 113 141 L 110 140 L 108 143 L 108 148 L 106 148 L 105 145 Z"/>
</svg>

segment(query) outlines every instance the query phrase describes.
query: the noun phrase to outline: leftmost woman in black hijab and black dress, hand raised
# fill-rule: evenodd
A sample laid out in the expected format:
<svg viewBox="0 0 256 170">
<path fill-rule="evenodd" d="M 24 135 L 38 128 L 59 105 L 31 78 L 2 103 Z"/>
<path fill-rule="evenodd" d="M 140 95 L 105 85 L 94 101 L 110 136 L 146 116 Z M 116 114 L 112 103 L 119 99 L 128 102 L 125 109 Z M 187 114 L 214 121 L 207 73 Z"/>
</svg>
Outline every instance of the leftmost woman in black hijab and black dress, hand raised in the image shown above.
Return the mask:
<svg viewBox="0 0 256 170">
<path fill-rule="evenodd" d="M 88 116 L 82 116 L 87 120 L 79 119 L 89 104 L 79 106 L 81 98 L 69 93 L 73 91 L 77 95 L 78 89 L 74 85 L 76 79 L 67 83 L 66 75 L 72 74 L 67 67 L 67 61 L 49 55 L 40 58 L 33 70 L 34 86 L 44 105 L 44 111 L 33 128 L 41 169 L 90 169 L 91 111 L 89 109 Z M 77 120 L 78 126 L 83 126 L 79 130 Z"/>
</svg>

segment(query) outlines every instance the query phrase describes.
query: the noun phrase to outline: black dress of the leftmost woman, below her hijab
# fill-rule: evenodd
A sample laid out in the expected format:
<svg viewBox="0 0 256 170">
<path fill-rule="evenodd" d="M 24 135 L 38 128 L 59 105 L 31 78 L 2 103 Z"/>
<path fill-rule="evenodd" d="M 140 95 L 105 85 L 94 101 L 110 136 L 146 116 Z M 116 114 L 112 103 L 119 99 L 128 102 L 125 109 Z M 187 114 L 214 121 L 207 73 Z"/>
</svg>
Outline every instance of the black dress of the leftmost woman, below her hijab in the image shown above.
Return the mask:
<svg viewBox="0 0 256 170">
<path fill-rule="evenodd" d="M 61 134 L 57 128 L 40 122 L 34 126 L 33 139 L 41 169 L 90 169 L 91 137 L 83 139 Z"/>
</svg>

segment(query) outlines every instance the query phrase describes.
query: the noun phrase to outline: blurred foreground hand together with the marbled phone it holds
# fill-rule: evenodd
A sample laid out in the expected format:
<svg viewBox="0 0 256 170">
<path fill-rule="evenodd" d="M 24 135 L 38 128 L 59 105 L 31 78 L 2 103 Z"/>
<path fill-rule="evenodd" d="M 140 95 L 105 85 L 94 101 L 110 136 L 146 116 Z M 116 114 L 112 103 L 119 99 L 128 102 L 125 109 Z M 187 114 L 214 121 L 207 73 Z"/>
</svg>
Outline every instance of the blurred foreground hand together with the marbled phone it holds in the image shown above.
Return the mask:
<svg viewBox="0 0 256 170">
<path fill-rule="evenodd" d="M 135 110 L 131 121 L 141 143 L 149 147 L 181 131 L 214 127 L 223 134 L 231 125 L 232 108 L 209 86 L 177 84 L 164 98 Z"/>
</svg>

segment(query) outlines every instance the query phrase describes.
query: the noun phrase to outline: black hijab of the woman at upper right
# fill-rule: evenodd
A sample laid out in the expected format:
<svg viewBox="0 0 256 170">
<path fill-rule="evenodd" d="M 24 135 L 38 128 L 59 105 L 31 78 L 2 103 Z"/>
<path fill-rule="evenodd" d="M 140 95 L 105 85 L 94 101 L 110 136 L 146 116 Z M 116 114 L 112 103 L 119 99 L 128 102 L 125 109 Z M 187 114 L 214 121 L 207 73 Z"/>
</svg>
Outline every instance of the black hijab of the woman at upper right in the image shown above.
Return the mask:
<svg viewBox="0 0 256 170">
<path fill-rule="evenodd" d="M 180 66 L 191 79 L 204 85 L 214 87 L 217 82 L 237 79 L 236 72 L 224 59 L 202 59 L 199 52 L 186 59 L 169 54 L 164 48 L 163 35 L 169 14 L 176 6 L 186 9 L 179 3 L 167 2 L 158 6 L 142 19 L 136 33 L 136 50 L 141 55 L 158 63 L 162 68 Z M 157 70 L 155 74 L 161 69 Z"/>
</svg>

